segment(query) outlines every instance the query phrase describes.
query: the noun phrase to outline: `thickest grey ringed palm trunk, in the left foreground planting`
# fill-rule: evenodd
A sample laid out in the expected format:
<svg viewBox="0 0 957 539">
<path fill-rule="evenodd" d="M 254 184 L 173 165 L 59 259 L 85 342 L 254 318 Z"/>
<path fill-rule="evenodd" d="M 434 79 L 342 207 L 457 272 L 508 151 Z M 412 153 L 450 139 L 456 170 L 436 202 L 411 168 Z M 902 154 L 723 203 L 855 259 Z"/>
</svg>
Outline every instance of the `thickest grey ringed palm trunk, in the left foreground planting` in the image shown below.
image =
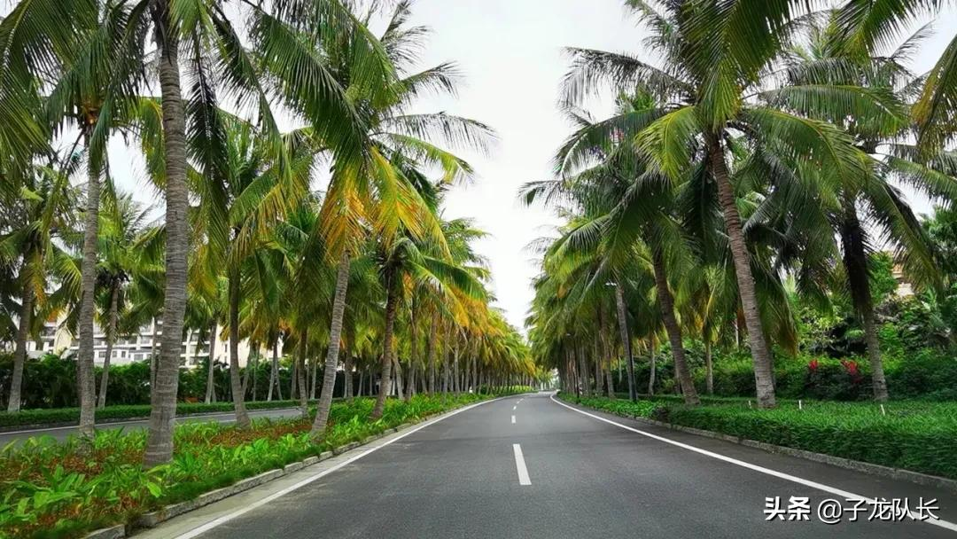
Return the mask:
<svg viewBox="0 0 957 539">
<path fill-rule="evenodd" d="M 173 455 L 173 420 L 179 386 L 183 316 L 186 314 L 187 210 L 186 110 L 180 91 L 179 27 L 169 24 L 169 0 L 157 0 L 153 19 L 159 52 L 160 92 L 163 100 L 163 141 L 166 166 L 166 292 L 163 303 L 163 345 L 156 367 L 156 385 L 150 392 L 149 432 L 144 465 L 163 464 Z"/>
</svg>

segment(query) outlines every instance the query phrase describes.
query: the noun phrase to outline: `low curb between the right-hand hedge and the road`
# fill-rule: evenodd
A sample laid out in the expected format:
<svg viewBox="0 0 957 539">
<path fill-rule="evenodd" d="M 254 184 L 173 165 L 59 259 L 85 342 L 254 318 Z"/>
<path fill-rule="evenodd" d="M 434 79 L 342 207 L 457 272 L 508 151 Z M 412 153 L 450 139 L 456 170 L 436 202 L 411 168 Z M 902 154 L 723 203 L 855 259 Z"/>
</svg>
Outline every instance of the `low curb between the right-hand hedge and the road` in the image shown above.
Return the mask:
<svg viewBox="0 0 957 539">
<path fill-rule="evenodd" d="M 787 447 L 784 445 L 774 445 L 773 443 L 768 443 L 765 441 L 757 441 L 748 438 L 738 438 L 730 435 L 725 435 L 722 433 L 717 433 L 714 431 L 704 431 L 701 429 L 695 429 L 692 427 L 685 427 L 682 425 L 676 425 L 674 423 L 665 423 L 663 421 L 657 421 L 655 419 L 649 419 L 647 417 L 640 417 L 637 415 L 626 415 L 626 414 L 615 414 L 613 412 L 608 412 L 606 410 L 599 410 L 597 408 L 588 408 L 582 407 L 580 404 L 571 403 L 566 401 L 570 406 L 575 406 L 578 408 L 586 408 L 588 410 L 593 410 L 600 412 L 602 414 L 615 415 L 618 417 L 624 417 L 626 419 L 634 419 L 641 423 L 648 425 L 655 425 L 657 427 L 664 427 L 671 429 L 673 431 L 679 431 L 682 433 L 688 433 L 696 436 L 701 436 L 704 438 L 715 438 L 721 439 L 723 441 L 730 441 L 732 443 L 737 443 L 738 445 L 744 445 L 746 447 L 753 447 L 754 449 L 761 449 L 762 451 L 767 451 L 768 453 L 778 453 L 781 455 L 788 455 L 789 457 L 796 457 L 798 459 L 812 460 L 814 462 L 820 462 L 822 464 L 831 464 L 832 466 L 837 466 L 838 468 L 844 468 L 848 470 L 854 470 L 856 472 L 861 472 L 873 476 L 878 476 L 887 479 L 893 479 L 898 481 L 905 481 L 908 483 L 920 484 L 922 486 L 933 486 L 936 488 L 941 488 L 943 490 L 948 490 L 950 492 L 957 492 L 957 480 L 947 479 L 938 476 L 931 476 L 927 474 L 922 474 L 920 472 L 912 472 L 910 470 L 904 470 L 901 468 L 892 468 L 890 466 L 883 466 L 880 464 L 872 464 L 871 462 L 864 462 L 861 460 L 852 460 L 845 459 L 843 457 L 835 457 L 833 455 L 826 455 L 824 453 L 814 453 L 812 451 L 806 451 L 804 449 L 796 449 L 793 447 Z"/>
</svg>

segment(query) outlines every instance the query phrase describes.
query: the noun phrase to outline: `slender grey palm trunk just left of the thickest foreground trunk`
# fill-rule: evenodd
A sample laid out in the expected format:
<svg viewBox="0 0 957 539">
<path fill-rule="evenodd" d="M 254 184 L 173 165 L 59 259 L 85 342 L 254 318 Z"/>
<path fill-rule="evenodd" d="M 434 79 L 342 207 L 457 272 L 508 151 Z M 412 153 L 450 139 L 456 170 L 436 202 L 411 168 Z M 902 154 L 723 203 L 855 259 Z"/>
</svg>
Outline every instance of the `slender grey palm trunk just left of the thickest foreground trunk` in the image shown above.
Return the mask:
<svg viewBox="0 0 957 539">
<path fill-rule="evenodd" d="M 87 148 L 89 136 L 87 136 Z M 96 380 L 93 372 L 94 328 L 97 288 L 97 235 L 100 228 L 100 169 L 90 159 L 86 182 L 86 215 L 83 230 L 83 259 L 80 262 L 79 348 L 77 382 L 79 393 L 79 436 L 94 435 L 96 422 Z"/>
</svg>

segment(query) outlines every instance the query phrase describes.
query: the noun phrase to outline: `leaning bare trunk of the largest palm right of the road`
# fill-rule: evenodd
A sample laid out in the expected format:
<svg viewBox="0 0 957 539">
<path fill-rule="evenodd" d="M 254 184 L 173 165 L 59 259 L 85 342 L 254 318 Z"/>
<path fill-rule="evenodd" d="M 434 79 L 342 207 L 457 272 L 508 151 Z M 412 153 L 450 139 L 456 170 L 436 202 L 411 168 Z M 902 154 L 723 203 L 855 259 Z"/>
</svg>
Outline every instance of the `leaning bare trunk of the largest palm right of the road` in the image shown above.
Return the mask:
<svg viewBox="0 0 957 539">
<path fill-rule="evenodd" d="M 724 214 L 724 227 L 731 246 L 731 256 L 734 258 L 738 293 L 745 311 L 747 341 L 754 361 L 754 383 L 757 389 L 758 406 L 774 408 L 777 405 L 774 396 L 774 368 L 771 364 L 768 339 L 765 337 L 761 322 L 761 311 L 758 309 L 754 277 L 751 275 L 750 255 L 747 252 L 745 231 L 742 227 L 741 215 L 738 213 L 734 187 L 731 185 L 727 165 L 724 163 L 724 149 L 716 133 L 708 135 L 707 146 L 711 173 L 718 184 L 718 199 Z"/>
</svg>

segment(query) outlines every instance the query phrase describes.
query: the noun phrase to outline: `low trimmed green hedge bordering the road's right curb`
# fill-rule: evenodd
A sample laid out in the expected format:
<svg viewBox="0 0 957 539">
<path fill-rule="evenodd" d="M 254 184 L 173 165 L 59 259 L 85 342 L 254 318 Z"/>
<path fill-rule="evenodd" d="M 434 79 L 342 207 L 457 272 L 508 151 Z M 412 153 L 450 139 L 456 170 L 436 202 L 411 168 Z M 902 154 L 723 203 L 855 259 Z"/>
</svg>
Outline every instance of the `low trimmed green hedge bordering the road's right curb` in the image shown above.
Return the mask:
<svg viewBox="0 0 957 539">
<path fill-rule="evenodd" d="M 616 415 L 657 419 L 705 431 L 823 453 L 845 459 L 957 479 L 957 404 L 920 401 L 804 402 L 774 410 L 746 403 L 687 407 L 665 401 L 562 397 Z"/>
</svg>

